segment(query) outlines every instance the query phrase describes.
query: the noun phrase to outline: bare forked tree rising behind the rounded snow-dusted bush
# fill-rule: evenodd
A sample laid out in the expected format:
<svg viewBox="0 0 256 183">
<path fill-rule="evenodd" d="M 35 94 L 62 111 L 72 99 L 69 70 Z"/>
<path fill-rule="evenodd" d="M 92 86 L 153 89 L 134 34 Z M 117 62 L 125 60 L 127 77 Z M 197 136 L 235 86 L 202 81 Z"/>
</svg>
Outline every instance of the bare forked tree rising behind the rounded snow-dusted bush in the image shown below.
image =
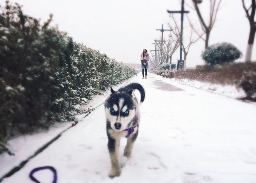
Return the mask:
<svg viewBox="0 0 256 183">
<path fill-rule="evenodd" d="M 216 22 L 216 16 L 218 13 L 218 10 L 220 8 L 220 2 L 222 0 L 210 0 L 210 17 L 209 17 L 209 22 L 208 25 L 206 24 L 206 21 L 204 20 L 200 9 L 198 7 L 199 2 L 202 2 L 201 0 L 192 0 L 192 3 L 194 5 L 194 10 L 196 10 L 196 13 L 198 15 L 198 18 L 200 20 L 200 24 L 201 24 L 201 28 L 205 34 L 205 38 L 202 37 L 202 35 L 200 33 L 198 33 L 198 31 L 192 26 L 192 24 L 190 23 L 190 25 L 192 26 L 192 28 L 194 29 L 194 31 L 196 32 L 196 34 L 198 36 L 200 36 L 200 38 L 202 38 L 205 42 L 205 46 L 204 48 L 208 48 L 208 43 L 209 43 L 209 38 L 210 38 L 210 33 L 212 31 L 212 28 Z M 190 7 L 191 8 L 191 7 Z"/>
</svg>

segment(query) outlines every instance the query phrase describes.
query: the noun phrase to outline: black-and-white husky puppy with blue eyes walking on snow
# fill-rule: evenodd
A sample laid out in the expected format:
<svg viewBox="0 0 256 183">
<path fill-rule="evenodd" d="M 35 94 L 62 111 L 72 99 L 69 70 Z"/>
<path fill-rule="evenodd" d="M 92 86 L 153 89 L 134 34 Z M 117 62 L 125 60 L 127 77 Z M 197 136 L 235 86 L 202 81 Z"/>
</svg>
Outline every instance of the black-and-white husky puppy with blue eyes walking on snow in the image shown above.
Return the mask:
<svg viewBox="0 0 256 183">
<path fill-rule="evenodd" d="M 112 169 L 109 177 L 113 178 L 121 174 L 121 165 L 118 160 L 119 143 L 121 137 L 127 138 L 124 148 L 124 156 L 130 157 L 133 143 L 138 136 L 140 121 L 139 104 L 133 91 L 139 90 L 140 104 L 144 101 L 144 88 L 138 83 L 131 83 L 114 91 L 110 88 L 111 94 L 106 99 L 105 114 L 108 135 L 108 151 Z"/>
</svg>

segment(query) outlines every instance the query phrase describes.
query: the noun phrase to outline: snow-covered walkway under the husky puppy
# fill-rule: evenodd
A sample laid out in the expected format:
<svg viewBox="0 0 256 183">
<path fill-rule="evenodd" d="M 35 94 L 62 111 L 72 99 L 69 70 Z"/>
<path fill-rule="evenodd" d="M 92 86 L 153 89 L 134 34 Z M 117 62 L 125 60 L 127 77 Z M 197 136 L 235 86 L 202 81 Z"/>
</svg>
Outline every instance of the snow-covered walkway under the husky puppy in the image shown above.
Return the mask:
<svg viewBox="0 0 256 183">
<path fill-rule="evenodd" d="M 58 183 L 256 183 L 256 105 L 149 74 L 132 157 L 110 179 L 104 106 L 64 132 L 4 183 L 30 183 L 30 171 L 51 165 Z M 115 89 L 115 88 L 114 88 Z M 50 183 L 48 170 L 34 174 Z"/>
</svg>

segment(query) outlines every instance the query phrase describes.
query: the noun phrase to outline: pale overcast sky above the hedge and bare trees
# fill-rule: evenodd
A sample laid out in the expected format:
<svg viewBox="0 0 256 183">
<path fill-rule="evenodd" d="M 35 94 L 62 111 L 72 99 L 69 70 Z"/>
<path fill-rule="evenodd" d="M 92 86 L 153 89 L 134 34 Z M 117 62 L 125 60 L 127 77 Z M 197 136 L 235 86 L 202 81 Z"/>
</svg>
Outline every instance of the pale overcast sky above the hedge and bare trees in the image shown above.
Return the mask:
<svg viewBox="0 0 256 183">
<path fill-rule="evenodd" d="M 126 63 L 140 63 L 143 48 L 154 50 L 154 39 L 160 39 L 161 32 L 156 31 L 164 24 L 167 29 L 170 22 L 169 10 L 180 10 L 181 0 L 10 0 L 23 5 L 25 14 L 46 20 L 54 14 L 54 24 L 66 31 L 75 41 L 83 42 L 90 48 L 107 54 L 110 58 Z M 209 0 L 203 0 L 200 8 L 208 16 Z M 1 0 L 3 3 L 3 0 Z M 185 0 L 190 3 L 191 0 Z M 249 2 L 249 1 L 248 1 Z M 2 4 L 1 3 L 1 4 Z M 2 4 L 3 5 L 3 4 Z M 188 16 L 198 25 L 196 12 Z M 176 15 L 180 20 L 180 15 Z M 184 22 L 184 40 L 188 35 L 188 21 Z M 169 32 L 164 32 L 167 39 Z M 249 22 L 242 8 L 242 0 L 222 0 L 216 24 L 210 34 L 209 44 L 230 42 L 238 47 L 245 56 L 249 35 Z M 196 35 L 195 35 L 196 37 Z M 200 54 L 204 50 L 204 41 L 199 40 L 190 48 L 187 66 L 203 64 Z M 173 62 L 179 58 L 179 50 L 173 56 Z M 242 61 L 243 59 L 241 59 Z M 254 45 L 252 60 L 256 60 Z"/>
</svg>

